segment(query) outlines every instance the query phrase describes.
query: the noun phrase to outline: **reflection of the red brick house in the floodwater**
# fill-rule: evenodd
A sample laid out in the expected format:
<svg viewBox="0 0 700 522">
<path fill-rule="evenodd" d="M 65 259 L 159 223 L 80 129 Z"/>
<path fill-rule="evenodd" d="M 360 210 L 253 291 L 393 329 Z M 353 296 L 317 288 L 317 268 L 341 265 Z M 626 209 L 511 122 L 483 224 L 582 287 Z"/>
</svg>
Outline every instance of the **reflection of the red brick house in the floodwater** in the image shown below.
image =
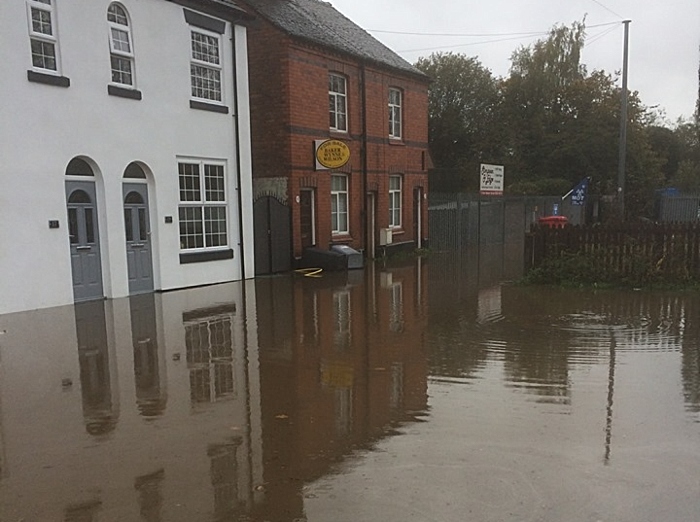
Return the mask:
<svg viewBox="0 0 700 522">
<path fill-rule="evenodd" d="M 425 411 L 426 271 L 256 281 L 269 519 L 301 519 L 304 484 Z"/>
</svg>

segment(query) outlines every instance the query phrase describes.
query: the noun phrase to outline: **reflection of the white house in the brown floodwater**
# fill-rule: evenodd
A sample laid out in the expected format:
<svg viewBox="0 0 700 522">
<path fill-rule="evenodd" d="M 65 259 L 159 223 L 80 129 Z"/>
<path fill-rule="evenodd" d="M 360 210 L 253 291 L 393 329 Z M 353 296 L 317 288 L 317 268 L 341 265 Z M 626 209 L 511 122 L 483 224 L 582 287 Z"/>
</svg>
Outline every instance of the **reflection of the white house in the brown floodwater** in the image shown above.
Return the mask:
<svg viewBox="0 0 700 522">
<path fill-rule="evenodd" d="M 246 284 L 0 316 L 0 520 L 253 511 L 262 436 Z"/>
</svg>

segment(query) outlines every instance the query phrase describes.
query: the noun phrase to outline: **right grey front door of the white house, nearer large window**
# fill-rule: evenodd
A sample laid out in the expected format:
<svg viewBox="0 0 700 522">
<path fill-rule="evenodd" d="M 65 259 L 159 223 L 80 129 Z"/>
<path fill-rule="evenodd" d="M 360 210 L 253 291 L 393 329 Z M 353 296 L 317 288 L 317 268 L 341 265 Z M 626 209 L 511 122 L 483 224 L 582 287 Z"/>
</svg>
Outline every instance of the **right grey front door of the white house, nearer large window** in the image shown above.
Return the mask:
<svg viewBox="0 0 700 522">
<path fill-rule="evenodd" d="M 129 294 L 142 294 L 153 290 L 149 223 L 148 186 L 143 183 L 125 183 L 124 230 Z"/>
</svg>

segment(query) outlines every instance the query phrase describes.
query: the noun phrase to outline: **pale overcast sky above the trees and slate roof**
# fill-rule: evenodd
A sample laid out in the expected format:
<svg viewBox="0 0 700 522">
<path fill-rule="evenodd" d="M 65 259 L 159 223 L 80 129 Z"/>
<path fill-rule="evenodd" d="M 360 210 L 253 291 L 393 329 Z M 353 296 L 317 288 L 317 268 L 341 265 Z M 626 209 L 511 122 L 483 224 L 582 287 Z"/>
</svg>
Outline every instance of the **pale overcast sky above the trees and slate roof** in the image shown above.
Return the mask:
<svg viewBox="0 0 700 522">
<path fill-rule="evenodd" d="M 622 70 L 623 24 L 631 20 L 630 90 L 669 123 L 690 117 L 698 97 L 700 0 L 330 0 L 411 63 L 433 52 L 477 56 L 505 76 L 510 56 L 555 24 L 586 16 L 582 61 L 589 72 Z M 395 34 L 393 32 L 417 33 Z M 421 33 L 482 36 L 426 36 Z M 516 34 L 517 33 L 517 34 Z M 524 35 L 523 33 L 530 33 Z"/>
</svg>

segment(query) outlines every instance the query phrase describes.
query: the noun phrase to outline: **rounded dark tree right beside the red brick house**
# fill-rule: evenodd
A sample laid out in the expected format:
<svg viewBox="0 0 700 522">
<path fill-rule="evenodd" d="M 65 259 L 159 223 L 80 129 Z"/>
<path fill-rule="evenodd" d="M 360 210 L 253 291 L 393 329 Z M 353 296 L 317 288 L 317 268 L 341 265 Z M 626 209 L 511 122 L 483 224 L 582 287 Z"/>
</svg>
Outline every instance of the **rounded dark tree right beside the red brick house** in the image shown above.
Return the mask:
<svg viewBox="0 0 700 522">
<path fill-rule="evenodd" d="M 476 58 L 434 53 L 416 67 L 432 79 L 428 95 L 430 152 L 439 170 L 456 174 L 452 188 L 473 189 L 478 164 L 500 155 L 498 81 Z"/>
</svg>

